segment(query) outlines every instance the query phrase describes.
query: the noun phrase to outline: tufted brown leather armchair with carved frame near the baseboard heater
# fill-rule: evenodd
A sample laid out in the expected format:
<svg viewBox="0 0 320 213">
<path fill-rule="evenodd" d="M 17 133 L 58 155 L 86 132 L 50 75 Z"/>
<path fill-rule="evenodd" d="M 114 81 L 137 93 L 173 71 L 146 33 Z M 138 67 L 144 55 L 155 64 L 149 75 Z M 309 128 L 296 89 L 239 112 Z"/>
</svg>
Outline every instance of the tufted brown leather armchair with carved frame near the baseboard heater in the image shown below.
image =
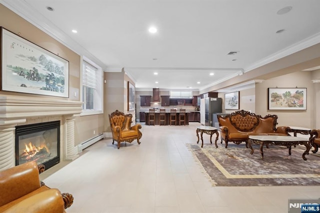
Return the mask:
<svg viewBox="0 0 320 213">
<path fill-rule="evenodd" d="M 132 142 L 134 139 L 140 144 L 139 139 L 142 133 L 139 131 L 141 124 L 137 123 L 131 126 L 132 114 L 124 114 L 121 111 L 115 110 L 109 114 L 110 127 L 112 132 L 112 144 L 114 140 L 118 143 L 120 148 L 121 142 Z"/>
</svg>

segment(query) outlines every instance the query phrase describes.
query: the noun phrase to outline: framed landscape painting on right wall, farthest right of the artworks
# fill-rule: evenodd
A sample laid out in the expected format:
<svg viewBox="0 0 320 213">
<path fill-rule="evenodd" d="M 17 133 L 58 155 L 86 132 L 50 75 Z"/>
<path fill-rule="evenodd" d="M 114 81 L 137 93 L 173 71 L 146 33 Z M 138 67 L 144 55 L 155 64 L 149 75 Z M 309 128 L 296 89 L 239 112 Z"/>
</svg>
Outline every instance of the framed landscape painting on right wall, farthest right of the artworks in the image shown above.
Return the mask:
<svg viewBox="0 0 320 213">
<path fill-rule="evenodd" d="M 306 88 L 268 88 L 268 109 L 306 109 Z"/>
</svg>

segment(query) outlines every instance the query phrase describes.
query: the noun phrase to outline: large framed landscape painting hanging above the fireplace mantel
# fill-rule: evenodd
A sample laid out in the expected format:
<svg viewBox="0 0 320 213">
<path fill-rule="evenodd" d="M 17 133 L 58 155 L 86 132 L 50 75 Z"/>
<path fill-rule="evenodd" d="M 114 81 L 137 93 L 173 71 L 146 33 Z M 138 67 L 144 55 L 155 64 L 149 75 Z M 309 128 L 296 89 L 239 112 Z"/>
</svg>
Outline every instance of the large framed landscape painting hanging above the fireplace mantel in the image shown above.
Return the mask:
<svg viewBox="0 0 320 213">
<path fill-rule="evenodd" d="M 1 90 L 68 97 L 69 62 L 1 27 Z"/>
</svg>

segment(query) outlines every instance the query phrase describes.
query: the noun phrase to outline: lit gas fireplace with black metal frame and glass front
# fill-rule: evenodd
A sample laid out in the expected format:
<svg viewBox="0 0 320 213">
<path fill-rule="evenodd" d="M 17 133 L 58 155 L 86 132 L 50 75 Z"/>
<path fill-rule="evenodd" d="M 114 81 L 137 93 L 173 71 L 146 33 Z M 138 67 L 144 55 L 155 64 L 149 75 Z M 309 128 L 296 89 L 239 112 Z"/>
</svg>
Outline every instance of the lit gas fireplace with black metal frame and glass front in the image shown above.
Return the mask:
<svg viewBox="0 0 320 213">
<path fill-rule="evenodd" d="M 35 160 L 45 169 L 60 162 L 60 121 L 15 126 L 15 165 Z"/>
</svg>

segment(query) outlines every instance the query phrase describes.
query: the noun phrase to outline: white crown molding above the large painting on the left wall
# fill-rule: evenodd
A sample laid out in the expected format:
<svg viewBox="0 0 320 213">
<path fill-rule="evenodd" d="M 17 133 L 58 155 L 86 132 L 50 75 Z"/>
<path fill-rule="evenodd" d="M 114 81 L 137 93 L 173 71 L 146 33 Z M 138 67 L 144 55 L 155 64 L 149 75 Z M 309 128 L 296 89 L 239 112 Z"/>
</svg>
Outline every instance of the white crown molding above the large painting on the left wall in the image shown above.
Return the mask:
<svg viewBox="0 0 320 213">
<path fill-rule="evenodd" d="M 24 0 L 1 0 L 1 3 L 12 10 L 17 15 L 21 16 L 23 19 L 27 20 L 49 36 L 53 37 L 58 42 L 62 43 L 67 48 L 76 52 L 79 55 L 85 55 L 90 60 L 94 61 L 99 65 L 103 70 L 107 69 L 107 66 L 91 54 L 88 50 L 82 47 L 79 43 L 75 42 L 70 36 L 65 34 L 60 30 L 54 23 L 49 21 L 44 15 L 40 12 L 33 9 L 26 1 Z M 25 15 L 28 14 L 28 15 Z"/>
</svg>

